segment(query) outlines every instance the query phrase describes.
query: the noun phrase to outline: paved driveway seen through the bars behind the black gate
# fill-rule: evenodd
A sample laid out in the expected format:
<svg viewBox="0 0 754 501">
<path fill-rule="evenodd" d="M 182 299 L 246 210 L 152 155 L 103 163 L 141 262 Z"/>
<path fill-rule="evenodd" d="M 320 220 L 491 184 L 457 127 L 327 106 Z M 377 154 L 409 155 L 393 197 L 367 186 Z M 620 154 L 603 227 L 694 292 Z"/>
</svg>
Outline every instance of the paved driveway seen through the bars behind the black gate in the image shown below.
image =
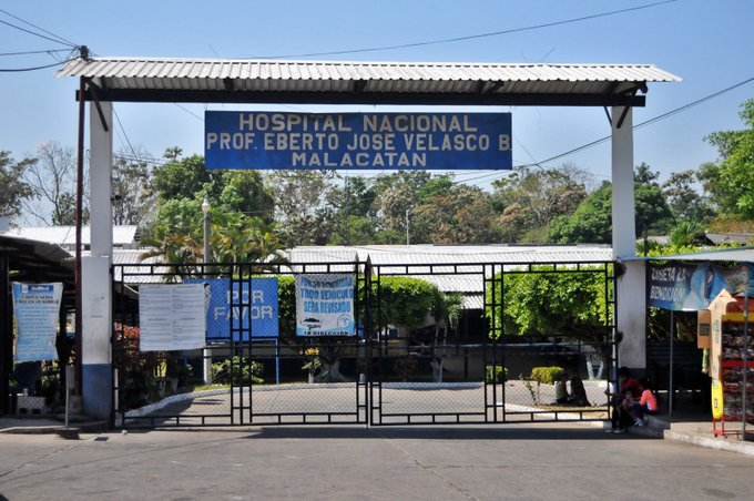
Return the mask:
<svg viewBox="0 0 754 501">
<path fill-rule="evenodd" d="M 604 382 L 599 384 L 594 381 L 585 381 L 588 397 L 593 403 L 602 403 L 607 401 L 604 396 Z M 532 384 L 531 391 L 526 388 L 523 381 L 508 381 L 506 382 L 505 402 L 508 412 L 530 410 L 534 398 L 542 403 L 549 403 L 554 400 L 554 390 L 552 385 L 538 386 Z M 318 413 L 319 416 L 308 416 L 308 422 L 355 422 L 357 409 L 360 421 L 365 421 L 366 409 L 363 408 L 367 398 L 373 398 L 375 405 L 380 408 L 383 416 L 381 422 L 385 423 L 401 423 L 406 422 L 403 415 L 424 415 L 418 419 L 415 417 L 412 422 L 432 422 L 435 417 L 432 413 L 445 413 L 446 416 L 438 416 L 437 421 L 454 422 L 456 416 L 454 412 L 463 413 L 465 422 L 483 422 L 486 411 L 485 391 L 487 391 L 487 402 L 491 406 L 492 402 L 498 402 L 502 406 L 503 395 L 502 386 L 492 388 L 485 387 L 480 382 L 470 384 L 385 384 L 381 390 L 375 389 L 371 395 L 368 395 L 367 387 L 355 384 L 330 384 L 330 385 L 282 385 L 282 386 L 255 386 L 253 398 L 249 400 L 248 389 L 235 389 L 233 392 L 233 400 L 231 399 L 231 391 L 227 389 L 220 389 L 213 391 L 205 391 L 202 393 L 192 393 L 184 396 L 174 396 L 166 399 L 165 406 L 160 406 L 154 409 L 152 406 L 136 411 L 137 413 L 130 413 L 134 419 L 130 419 L 126 426 L 134 426 L 140 422 L 136 416 L 152 416 L 152 417 L 167 417 L 181 416 L 183 425 L 200 426 L 202 423 L 210 425 L 230 425 L 231 409 L 236 409 L 233 412 L 234 423 L 254 423 L 267 425 L 277 422 L 277 415 L 288 415 L 285 418 L 288 423 L 300 422 L 302 418 L 293 417 L 302 413 Z M 177 399 L 177 400 L 176 400 Z M 175 401 L 174 401 L 175 400 Z M 171 402 L 171 403 L 167 403 Z M 245 409 L 242 419 L 240 407 Z M 587 408 L 590 409 L 590 408 Z M 254 417 L 249 416 L 253 410 Z M 597 419 L 607 417 L 603 408 L 590 409 L 587 417 Z M 265 416 L 266 415 L 266 416 Z M 393 416 L 389 416 L 393 415 Z M 200 418 L 203 417 L 203 418 Z M 495 421 L 492 411 L 488 409 L 487 419 Z M 498 420 L 502 419 L 502 411 L 499 411 Z M 529 420 L 529 415 L 523 415 L 519 418 L 509 415 L 508 420 Z M 149 423 L 149 420 L 141 420 L 143 423 Z M 169 420 L 167 422 L 174 422 Z"/>
</svg>

